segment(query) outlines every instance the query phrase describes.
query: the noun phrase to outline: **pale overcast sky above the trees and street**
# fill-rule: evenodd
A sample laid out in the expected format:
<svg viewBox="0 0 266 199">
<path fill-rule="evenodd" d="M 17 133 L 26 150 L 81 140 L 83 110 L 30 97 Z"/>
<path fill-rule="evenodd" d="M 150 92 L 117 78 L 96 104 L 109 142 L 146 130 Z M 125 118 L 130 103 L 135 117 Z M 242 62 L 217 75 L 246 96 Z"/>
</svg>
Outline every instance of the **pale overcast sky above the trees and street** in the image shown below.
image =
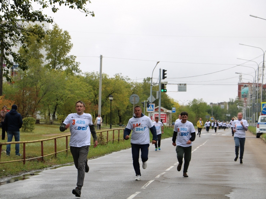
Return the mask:
<svg viewBox="0 0 266 199">
<path fill-rule="evenodd" d="M 262 50 L 239 43 L 266 50 L 266 20 L 249 16 L 266 19 L 265 7 L 265 0 L 91 0 L 87 8 L 95 17 L 67 7 L 45 13 L 70 33 L 70 54 L 83 72 L 99 71 L 103 55 L 104 73 L 141 82 L 160 61 L 155 82 L 161 68 L 167 70 L 168 83 L 187 83 L 187 92 L 168 84 L 170 97 L 183 102 L 203 98 L 209 104 L 237 96 L 235 72 L 255 76 L 254 62 L 245 64 L 254 69 L 234 66 L 246 62 L 237 58 L 263 61 Z M 253 82 L 250 75 L 243 75 L 243 82 Z"/>
</svg>

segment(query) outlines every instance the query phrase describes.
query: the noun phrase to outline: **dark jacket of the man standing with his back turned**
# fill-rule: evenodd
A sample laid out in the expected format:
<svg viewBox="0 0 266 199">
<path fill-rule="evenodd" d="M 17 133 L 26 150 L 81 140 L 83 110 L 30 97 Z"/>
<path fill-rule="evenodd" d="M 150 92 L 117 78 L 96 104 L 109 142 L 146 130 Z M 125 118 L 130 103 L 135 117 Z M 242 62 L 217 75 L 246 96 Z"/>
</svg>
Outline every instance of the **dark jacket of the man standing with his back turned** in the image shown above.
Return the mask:
<svg viewBox="0 0 266 199">
<path fill-rule="evenodd" d="M 22 127 L 22 117 L 15 109 L 11 109 L 6 114 L 4 124 L 7 127 L 7 132 L 10 131 L 19 131 L 19 129 Z"/>
</svg>

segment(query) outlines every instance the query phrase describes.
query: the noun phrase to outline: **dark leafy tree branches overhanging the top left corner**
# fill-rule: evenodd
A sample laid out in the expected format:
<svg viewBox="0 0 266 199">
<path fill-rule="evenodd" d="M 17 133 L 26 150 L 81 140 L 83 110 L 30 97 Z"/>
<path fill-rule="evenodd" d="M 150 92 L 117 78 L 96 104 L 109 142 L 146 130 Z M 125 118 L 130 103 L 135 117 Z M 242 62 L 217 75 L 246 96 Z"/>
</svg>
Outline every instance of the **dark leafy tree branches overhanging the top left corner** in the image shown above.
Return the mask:
<svg viewBox="0 0 266 199">
<path fill-rule="evenodd" d="M 23 57 L 19 53 L 14 51 L 14 48 L 20 43 L 22 48 L 27 51 L 29 40 L 28 36 L 36 37 L 39 42 L 44 37 L 46 32 L 40 26 L 33 26 L 32 28 L 27 28 L 28 22 L 48 22 L 53 23 L 53 18 L 47 16 L 43 13 L 42 9 L 35 9 L 35 5 L 41 5 L 42 8 L 51 7 L 52 11 L 55 13 L 59 9 L 59 6 L 65 5 L 72 9 L 78 9 L 84 14 L 94 16 L 94 12 L 90 12 L 86 7 L 86 3 L 89 0 L 57 0 L 57 1 L 45 1 L 45 0 L 34 0 L 29 1 L 8 1 L 3 0 L 0 4 L 0 57 L 3 57 L 3 61 L 6 67 L 3 68 L 3 61 L 1 59 L 1 77 L 6 77 L 8 81 L 11 81 L 9 76 L 9 69 L 13 67 L 13 62 L 18 63 L 22 70 L 27 70 L 28 59 Z M 22 23 L 19 23 L 21 20 Z M 19 25 L 18 25 L 19 24 Z M 13 62 L 8 58 L 8 56 L 13 57 Z M 4 74 L 2 73 L 4 72 Z M 2 89 L 2 86 L 1 88 Z"/>
</svg>

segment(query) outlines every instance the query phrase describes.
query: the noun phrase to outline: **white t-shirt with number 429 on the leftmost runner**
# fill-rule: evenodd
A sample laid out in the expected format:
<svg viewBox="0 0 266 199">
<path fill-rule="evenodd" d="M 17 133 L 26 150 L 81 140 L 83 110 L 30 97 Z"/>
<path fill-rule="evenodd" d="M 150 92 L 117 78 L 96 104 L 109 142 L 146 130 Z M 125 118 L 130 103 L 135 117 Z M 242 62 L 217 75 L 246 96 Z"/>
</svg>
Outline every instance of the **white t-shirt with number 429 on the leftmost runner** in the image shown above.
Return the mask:
<svg viewBox="0 0 266 199">
<path fill-rule="evenodd" d="M 90 145 L 90 127 L 93 125 L 92 117 L 89 113 L 78 115 L 77 113 L 69 114 L 64 124 L 70 123 L 70 142 L 71 147 L 83 147 Z"/>
</svg>

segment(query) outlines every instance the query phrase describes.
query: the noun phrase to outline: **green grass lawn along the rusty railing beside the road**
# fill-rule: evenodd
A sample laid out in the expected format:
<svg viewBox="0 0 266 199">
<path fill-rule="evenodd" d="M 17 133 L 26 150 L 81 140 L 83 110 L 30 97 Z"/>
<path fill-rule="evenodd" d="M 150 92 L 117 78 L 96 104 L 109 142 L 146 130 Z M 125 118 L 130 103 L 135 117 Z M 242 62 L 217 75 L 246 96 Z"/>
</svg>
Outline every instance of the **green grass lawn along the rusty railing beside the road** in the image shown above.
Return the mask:
<svg viewBox="0 0 266 199">
<path fill-rule="evenodd" d="M 104 126 L 105 127 L 105 126 Z M 113 127 L 118 128 L 118 127 Z M 108 130 L 101 129 L 101 130 Z M 96 130 L 97 132 L 97 130 Z M 60 135 L 66 135 L 70 134 L 69 129 L 67 129 L 65 132 L 59 131 L 59 125 L 46 125 L 46 124 L 38 124 L 35 125 L 35 129 L 33 132 L 20 132 L 20 141 L 33 141 L 33 140 L 41 140 L 41 139 L 47 139 L 52 137 L 57 137 Z M 173 128 L 164 128 L 164 134 L 162 134 L 162 139 L 172 137 L 173 135 Z M 98 142 L 100 142 L 100 133 L 97 133 L 98 136 Z M 114 134 L 115 139 L 118 138 L 118 131 L 115 131 Z M 88 158 L 95 158 L 99 156 L 103 156 L 105 154 L 119 151 L 122 149 L 130 148 L 130 141 L 123 139 L 120 140 L 118 143 L 117 140 L 108 143 L 104 143 L 107 138 L 107 133 L 103 132 L 101 137 L 102 145 L 98 145 L 96 148 L 90 147 L 90 152 L 88 154 Z M 123 138 L 123 130 L 120 130 L 120 138 Z M 108 140 L 113 139 L 113 131 L 108 133 Z M 69 143 L 70 137 L 68 137 L 68 143 Z M 150 133 L 150 140 L 152 140 L 152 135 Z M 14 141 L 14 138 L 13 138 Z M 7 135 L 6 139 L 0 142 L 7 142 Z M 91 145 L 93 143 L 93 139 L 91 137 Z M 64 150 L 66 148 L 66 138 L 58 138 L 57 139 L 57 151 Z M 2 150 L 6 150 L 6 145 L 3 145 Z M 44 155 L 50 154 L 54 152 L 54 140 L 45 141 L 43 142 L 43 153 Z M 20 144 L 20 153 L 23 154 L 23 144 Z M 2 152 L 1 155 L 1 162 L 6 161 L 12 161 L 12 160 L 18 160 L 22 159 L 22 156 L 18 157 L 15 156 L 15 145 L 11 145 L 11 156 L 6 156 L 5 152 Z M 39 157 L 41 156 L 41 143 L 35 142 L 35 143 L 26 143 L 26 158 L 32 158 L 32 157 Z M 70 150 L 68 152 L 61 152 L 57 154 L 57 157 L 54 155 L 44 157 L 44 162 L 42 162 L 39 159 L 26 161 L 25 165 L 23 165 L 23 162 L 10 162 L 10 163 L 3 163 L 0 164 L 0 178 L 6 177 L 10 175 L 18 175 L 23 172 L 30 172 L 33 170 L 39 170 L 44 169 L 47 167 L 52 167 L 54 165 L 61 165 L 61 164 L 67 164 L 73 162 L 72 155 L 70 153 Z"/>
</svg>

